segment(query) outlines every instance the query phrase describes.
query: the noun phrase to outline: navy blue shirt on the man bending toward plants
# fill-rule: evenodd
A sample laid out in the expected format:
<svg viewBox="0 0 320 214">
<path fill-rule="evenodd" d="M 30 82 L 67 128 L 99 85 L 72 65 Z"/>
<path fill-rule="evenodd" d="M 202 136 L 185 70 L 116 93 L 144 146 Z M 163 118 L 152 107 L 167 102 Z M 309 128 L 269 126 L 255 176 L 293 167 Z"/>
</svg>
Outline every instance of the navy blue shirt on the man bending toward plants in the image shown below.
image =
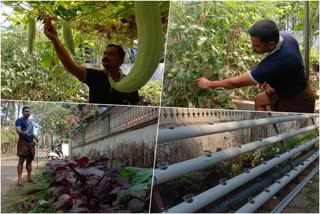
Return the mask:
<svg viewBox="0 0 320 214">
<path fill-rule="evenodd" d="M 297 40 L 289 34 L 281 36 L 279 49 L 263 59 L 250 76 L 256 83 L 267 82 L 280 97 L 291 97 L 306 88 L 307 78 Z"/>
</svg>

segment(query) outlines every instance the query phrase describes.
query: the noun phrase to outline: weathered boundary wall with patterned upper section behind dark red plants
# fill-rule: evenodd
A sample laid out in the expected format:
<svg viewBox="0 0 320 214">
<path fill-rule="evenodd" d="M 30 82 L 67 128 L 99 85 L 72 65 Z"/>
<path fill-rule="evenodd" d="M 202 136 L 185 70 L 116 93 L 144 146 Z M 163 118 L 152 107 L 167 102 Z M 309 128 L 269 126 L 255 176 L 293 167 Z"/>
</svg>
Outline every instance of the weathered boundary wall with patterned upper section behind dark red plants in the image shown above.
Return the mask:
<svg viewBox="0 0 320 214">
<path fill-rule="evenodd" d="M 158 114 L 153 107 L 113 107 L 73 136 L 71 156 L 153 167 Z"/>
</svg>

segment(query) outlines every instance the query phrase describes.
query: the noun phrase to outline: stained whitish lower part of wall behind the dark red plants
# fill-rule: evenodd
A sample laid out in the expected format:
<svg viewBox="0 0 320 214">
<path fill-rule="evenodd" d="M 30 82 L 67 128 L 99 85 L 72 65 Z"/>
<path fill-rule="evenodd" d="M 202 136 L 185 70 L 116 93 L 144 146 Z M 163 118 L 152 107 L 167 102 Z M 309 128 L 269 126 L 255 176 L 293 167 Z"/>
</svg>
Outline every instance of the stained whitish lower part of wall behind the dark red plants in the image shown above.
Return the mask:
<svg viewBox="0 0 320 214">
<path fill-rule="evenodd" d="M 126 163 L 127 166 L 153 167 L 157 124 L 118 133 L 86 145 L 72 148 L 72 156 L 87 156 L 90 159 L 108 157 L 113 167 Z"/>
</svg>

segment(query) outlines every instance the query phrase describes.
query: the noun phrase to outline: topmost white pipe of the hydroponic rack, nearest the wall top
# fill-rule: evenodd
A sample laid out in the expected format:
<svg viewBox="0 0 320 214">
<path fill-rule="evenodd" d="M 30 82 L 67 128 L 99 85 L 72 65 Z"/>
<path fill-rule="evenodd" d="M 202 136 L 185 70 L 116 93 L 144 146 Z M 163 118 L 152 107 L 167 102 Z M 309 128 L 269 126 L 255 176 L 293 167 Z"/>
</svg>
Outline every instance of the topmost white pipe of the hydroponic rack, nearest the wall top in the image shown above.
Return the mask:
<svg viewBox="0 0 320 214">
<path fill-rule="evenodd" d="M 252 128 L 263 126 L 272 123 L 282 123 L 292 120 L 309 119 L 317 117 L 317 114 L 303 114 L 293 116 L 283 116 L 274 118 L 262 118 L 254 120 L 243 120 L 226 123 L 215 123 L 206 125 L 189 125 L 175 128 L 159 129 L 157 143 L 164 143 L 167 141 L 181 140 L 186 138 L 198 137 L 203 135 L 216 134 L 221 132 L 234 131 L 238 129 Z"/>
</svg>

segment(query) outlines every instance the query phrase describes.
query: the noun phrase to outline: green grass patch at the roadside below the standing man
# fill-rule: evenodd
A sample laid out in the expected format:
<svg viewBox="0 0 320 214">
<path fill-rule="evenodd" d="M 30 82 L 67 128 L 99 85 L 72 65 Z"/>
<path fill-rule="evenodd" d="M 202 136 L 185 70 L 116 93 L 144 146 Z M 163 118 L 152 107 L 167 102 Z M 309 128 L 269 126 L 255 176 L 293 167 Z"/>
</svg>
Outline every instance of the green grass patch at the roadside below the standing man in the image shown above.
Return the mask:
<svg viewBox="0 0 320 214">
<path fill-rule="evenodd" d="M 26 193 L 35 190 L 48 187 L 46 179 L 42 176 L 44 167 L 40 167 L 33 173 L 33 179 L 36 182 L 28 183 L 24 182 L 24 187 L 13 186 L 8 190 L 7 194 L 2 196 L 1 199 L 1 212 L 2 213 L 48 213 L 54 212 L 51 204 L 51 194 L 44 190 L 33 195 L 27 195 Z M 40 201 L 47 203 L 40 205 Z"/>
</svg>

